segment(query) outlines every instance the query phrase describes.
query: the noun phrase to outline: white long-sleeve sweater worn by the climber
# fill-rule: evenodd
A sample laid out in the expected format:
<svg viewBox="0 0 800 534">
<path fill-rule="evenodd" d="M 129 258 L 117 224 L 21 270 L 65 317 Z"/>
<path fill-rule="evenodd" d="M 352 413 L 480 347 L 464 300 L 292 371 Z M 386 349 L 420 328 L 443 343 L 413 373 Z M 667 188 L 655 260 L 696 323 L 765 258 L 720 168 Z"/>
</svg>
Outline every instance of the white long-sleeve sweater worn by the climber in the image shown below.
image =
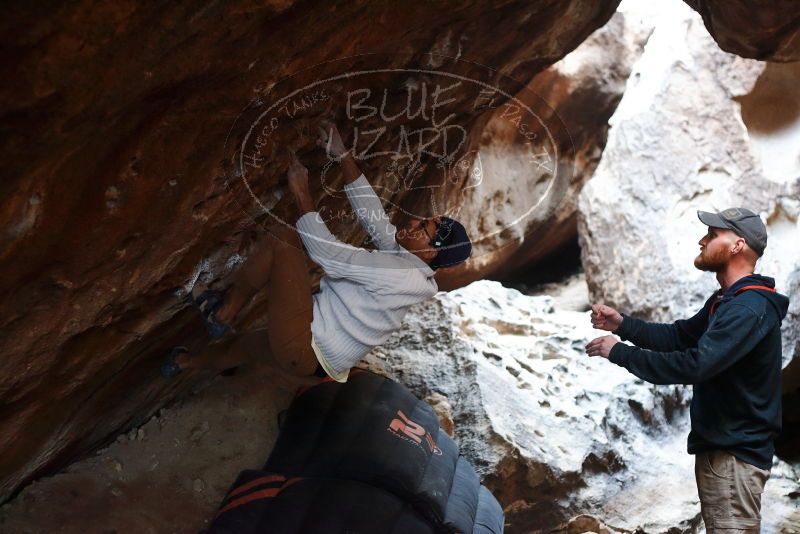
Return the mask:
<svg viewBox="0 0 800 534">
<path fill-rule="evenodd" d="M 336 239 L 319 212 L 297 221 L 309 256 L 325 271 L 313 297 L 311 333 L 328 365 L 343 373 L 397 330 L 408 308 L 436 294 L 434 271 L 395 241 L 397 229 L 362 174 L 344 186 L 378 250 Z"/>
</svg>

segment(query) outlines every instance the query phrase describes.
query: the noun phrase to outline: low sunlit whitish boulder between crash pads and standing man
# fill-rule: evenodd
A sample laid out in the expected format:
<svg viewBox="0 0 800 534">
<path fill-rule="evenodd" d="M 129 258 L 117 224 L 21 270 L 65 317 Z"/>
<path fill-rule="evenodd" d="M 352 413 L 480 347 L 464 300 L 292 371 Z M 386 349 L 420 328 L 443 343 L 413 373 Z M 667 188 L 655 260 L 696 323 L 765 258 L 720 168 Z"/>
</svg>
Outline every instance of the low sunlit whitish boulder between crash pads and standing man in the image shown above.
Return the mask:
<svg viewBox="0 0 800 534">
<path fill-rule="evenodd" d="M 652 386 L 584 345 L 588 312 L 562 311 L 497 282 L 475 282 L 409 312 L 368 361 L 417 395 L 444 397 L 455 438 L 506 511 L 507 532 L 696 532 L 683 386 Z M 764 532 L 797 528 L 798 473 L 779 462 Z M 794 517 L 794 519 L 792 518 Z M 576 530 L 577 529 L 577 530 Z"/>
</svg>

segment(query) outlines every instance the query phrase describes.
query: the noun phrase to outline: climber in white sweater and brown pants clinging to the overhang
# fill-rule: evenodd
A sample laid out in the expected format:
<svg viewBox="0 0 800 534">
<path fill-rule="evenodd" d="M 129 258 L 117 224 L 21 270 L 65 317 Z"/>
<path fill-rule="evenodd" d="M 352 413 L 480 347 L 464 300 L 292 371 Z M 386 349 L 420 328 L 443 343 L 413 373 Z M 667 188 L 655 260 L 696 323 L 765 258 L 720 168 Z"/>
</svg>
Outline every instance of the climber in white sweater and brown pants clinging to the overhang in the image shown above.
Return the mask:
<svg viewBox="0 0 800 534">
<path fill-rule="evenodd" d="M 262 354 L 292 376 L 345 381 L 351 367 L 400 327 L 411 306 L 438 291 L 437 269 L 469 258 L 464 227 L 448 217 L 413 218 L 398 231 L 335 125 L 320 126 L 317 144 L 341 164 L 347 198 L 376 250 L 334 237 L 312 200 L 308 170 L 292 154 L 288 182 L 300 213 L 296 229 L 271 227 L 224 295 L 201 295 L 198 305 L 219 341 L 196 355 L 176 347 L 162 366 L 165 377 L 183 368 L 222 371 L 242 363 L 242 355 Z M 313 295 L 301 239 L 325 272 Z M 234 335 L 238 312 L 259 291 L 269 299 L 266 330 Z"/>
</svg>

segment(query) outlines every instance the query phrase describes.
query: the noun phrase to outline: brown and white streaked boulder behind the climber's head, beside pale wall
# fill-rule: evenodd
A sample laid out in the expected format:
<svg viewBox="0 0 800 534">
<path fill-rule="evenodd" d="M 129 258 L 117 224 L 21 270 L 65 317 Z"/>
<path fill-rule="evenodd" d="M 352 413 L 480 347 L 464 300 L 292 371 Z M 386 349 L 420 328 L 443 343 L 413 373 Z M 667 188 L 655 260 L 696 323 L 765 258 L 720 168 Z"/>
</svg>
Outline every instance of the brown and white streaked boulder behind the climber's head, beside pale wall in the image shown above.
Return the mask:
<svg viewBox="0 0 800 534">
<path fill-rule="evenodd" d="M 519 101 L 489 112 L 472 168 L 481 179 L 459 210 L 480 236 L 460 282 L 502 278 L 577 235 L 577 193 L 597 166 L 608 119 L 653 24 L 620 6 L 575 51 L 537 74 Z"/>
</svg>

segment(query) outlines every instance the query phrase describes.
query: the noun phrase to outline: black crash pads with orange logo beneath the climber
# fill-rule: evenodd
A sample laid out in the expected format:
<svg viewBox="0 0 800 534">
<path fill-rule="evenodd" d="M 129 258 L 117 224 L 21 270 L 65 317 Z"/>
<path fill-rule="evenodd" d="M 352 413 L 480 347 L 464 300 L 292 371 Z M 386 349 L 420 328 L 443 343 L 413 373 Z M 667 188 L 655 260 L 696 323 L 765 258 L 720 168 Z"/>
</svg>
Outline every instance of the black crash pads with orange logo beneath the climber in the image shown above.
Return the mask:
<svg viewBox="0 0 800 534">
<path fill-rule="evenodd" d="M 499 534 L 503 519 L 433 409 L 356 372 L 295 398 L 266 465 L 239 475 L 208 532 Z"/>
</svg>

